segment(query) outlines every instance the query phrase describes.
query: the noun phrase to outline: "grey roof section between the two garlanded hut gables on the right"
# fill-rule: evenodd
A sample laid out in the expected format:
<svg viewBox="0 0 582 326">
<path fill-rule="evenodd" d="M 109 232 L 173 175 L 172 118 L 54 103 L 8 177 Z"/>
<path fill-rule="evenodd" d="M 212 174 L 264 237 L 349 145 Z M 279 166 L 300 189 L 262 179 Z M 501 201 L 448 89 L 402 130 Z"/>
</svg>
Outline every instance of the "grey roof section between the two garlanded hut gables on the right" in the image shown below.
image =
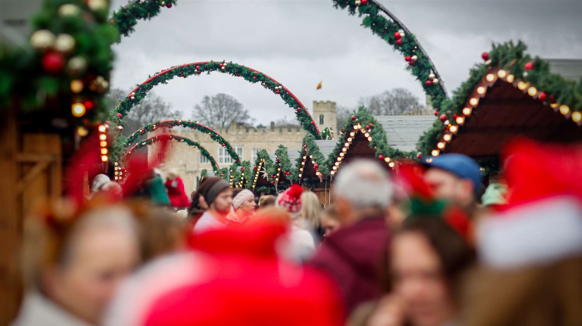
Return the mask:
<svg viewBox="0 0 582 326">
<path fill-rule="evenodd" d="M 401 151 L 413 151 L 420 136 L 435 122 L 433 115 L 377 115 L 386 132 L 386 143 Z"/>
</svg>

